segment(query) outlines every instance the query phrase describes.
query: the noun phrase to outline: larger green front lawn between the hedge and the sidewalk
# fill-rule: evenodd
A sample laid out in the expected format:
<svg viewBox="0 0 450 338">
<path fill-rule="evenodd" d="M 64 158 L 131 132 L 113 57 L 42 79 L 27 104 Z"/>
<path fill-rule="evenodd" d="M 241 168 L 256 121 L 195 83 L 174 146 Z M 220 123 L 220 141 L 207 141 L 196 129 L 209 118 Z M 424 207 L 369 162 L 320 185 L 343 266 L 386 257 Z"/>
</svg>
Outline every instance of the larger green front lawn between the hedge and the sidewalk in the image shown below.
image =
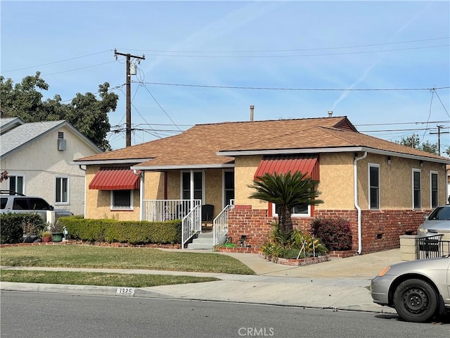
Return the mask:
<svg viewBox="0 0 450 338">
<path fill-rule="evenodd" d="M 0 249 L 3 266 L 115 268 L 255 275 L 236 258 L 220 253 L 167 251 L 82 245 L 8 246 Z"/>
</svg>

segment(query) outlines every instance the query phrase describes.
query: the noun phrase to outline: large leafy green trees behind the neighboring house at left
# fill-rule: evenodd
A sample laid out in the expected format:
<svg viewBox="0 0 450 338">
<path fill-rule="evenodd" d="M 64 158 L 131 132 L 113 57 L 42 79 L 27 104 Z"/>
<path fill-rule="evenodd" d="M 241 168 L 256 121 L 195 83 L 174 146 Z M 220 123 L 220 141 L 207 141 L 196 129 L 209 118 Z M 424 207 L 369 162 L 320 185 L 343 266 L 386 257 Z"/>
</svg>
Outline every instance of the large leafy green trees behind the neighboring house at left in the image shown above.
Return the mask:
<svg viewBox="0 0 450 338">
<path fill-rule="evenodd" d="M 0 76 L 1 117 L 18 117 L 25 122 L 67 120 L 79 132 L 91 139 L 104 151 L 111 149 L 106 139 L 110 131 L 108 113 L 115 111 L 119 96 L 109 93 L 110 84 L 98 86 L 98 100 L 90 92 L 77 93 L 70 104 L 63 104 L 59 95 L 43 101 L 42 90 L 48 90 L 49 84 L 34 76 L 25 77 L 20 84 L 13 85 L 11 79 Z"/>
</svg>

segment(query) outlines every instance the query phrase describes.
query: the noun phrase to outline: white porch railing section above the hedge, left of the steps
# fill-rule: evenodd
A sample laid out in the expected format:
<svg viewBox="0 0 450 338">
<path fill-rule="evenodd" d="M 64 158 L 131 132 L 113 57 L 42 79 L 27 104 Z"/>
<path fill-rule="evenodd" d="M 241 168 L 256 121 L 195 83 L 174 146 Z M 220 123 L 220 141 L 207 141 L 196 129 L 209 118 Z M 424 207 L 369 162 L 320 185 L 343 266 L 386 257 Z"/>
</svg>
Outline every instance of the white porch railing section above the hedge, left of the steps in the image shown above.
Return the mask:
<svg viewBox="0 0 450 338">
<path fill-rule="evenodd" d="M 195 206 L 200 206 L 200 199 L 144 199 L 142 220 L 163 222 L 165 220 L 181 220 Z M 201 215 L 200 215 L 201 218 Z"/>
</svg>

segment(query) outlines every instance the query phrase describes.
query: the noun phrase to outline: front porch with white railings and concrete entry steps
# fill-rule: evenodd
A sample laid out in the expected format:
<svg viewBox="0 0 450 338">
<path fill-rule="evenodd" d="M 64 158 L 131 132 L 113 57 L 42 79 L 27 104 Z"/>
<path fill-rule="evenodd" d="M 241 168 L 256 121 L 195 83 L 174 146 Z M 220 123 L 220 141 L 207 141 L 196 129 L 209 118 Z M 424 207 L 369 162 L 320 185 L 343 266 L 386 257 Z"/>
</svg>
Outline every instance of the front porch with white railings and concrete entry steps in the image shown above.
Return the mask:
<svg viewBox="0 0 450 338">
<path fill-rule="evenodd" d="M 181 220 L 181 249 L 212 249 L 226 241 L 228 212 L 233 208 L 233 204 L 223 208 L 215 218 L 206 215 L 203 206 L 205 205 L 202 205 L 200 199 L 143 200 L 141 220 L 151 222 Z M 209 223 L 212 224 L 211 230 L 206 227 Z M 208 232 L 210 234 L 207 234 Z M 191 242 L 202 234 L 203 245 L 191 245 Z"/>
</svg>

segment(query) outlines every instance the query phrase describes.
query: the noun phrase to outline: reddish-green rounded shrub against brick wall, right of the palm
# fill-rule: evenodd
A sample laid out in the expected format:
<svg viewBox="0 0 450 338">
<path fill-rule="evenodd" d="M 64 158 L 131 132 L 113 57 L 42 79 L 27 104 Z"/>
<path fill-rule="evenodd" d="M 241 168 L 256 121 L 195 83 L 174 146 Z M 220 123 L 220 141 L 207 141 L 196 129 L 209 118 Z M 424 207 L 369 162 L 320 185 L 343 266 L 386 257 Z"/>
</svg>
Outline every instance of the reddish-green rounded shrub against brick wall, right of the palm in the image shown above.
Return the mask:
<svg viewBox="0 0 450 338">
<path fill-rule="evenodd" d="M 329 250 L 352 249 L 352 229 L 343 218 L 314 218 L 311 234 L 319 237 Z"/>
</svg>

